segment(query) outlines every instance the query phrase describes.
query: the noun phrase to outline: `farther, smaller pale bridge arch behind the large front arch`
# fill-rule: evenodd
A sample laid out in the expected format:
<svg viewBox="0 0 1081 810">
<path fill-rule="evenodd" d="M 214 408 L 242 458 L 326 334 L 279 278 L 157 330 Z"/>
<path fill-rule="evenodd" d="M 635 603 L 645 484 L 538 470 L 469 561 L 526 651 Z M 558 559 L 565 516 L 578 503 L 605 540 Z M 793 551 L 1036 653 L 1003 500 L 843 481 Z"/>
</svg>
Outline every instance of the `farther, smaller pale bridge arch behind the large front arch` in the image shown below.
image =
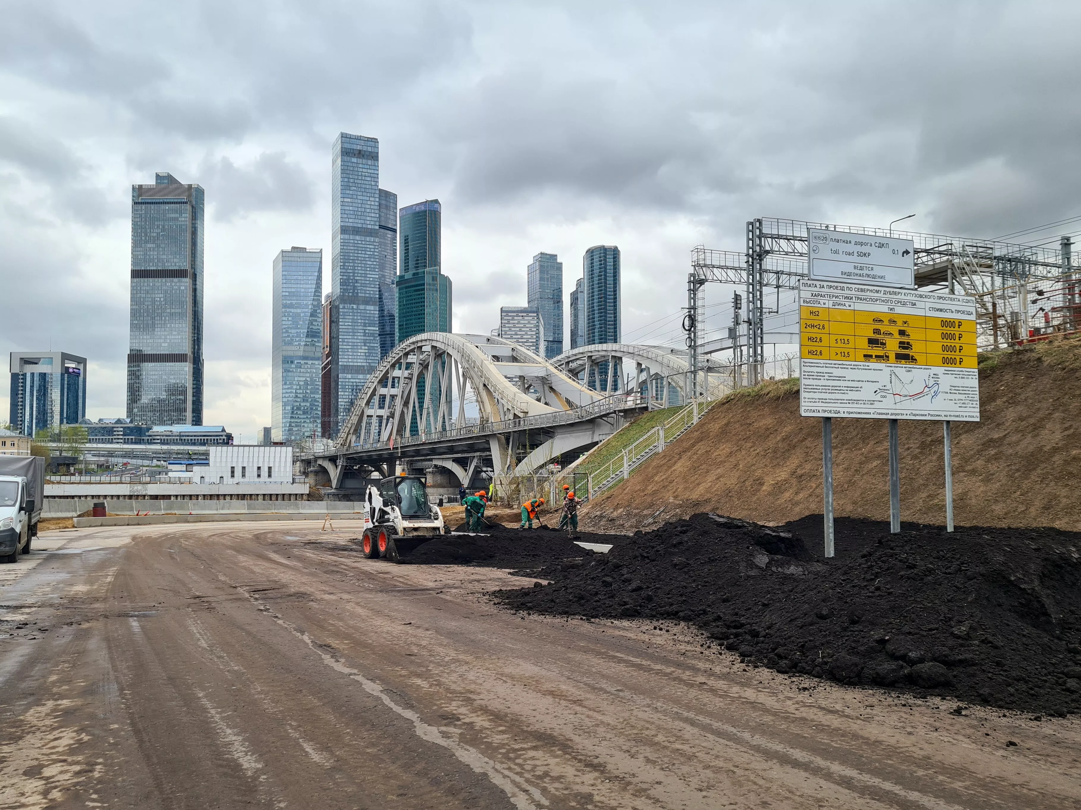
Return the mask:
<svg viewBox="0 0 1081 810">
<path fill-rule="evenodd" d="M 595 343 L 571 349 L 551 359 L 551 364 L 574 379 L 593 383 L 605 394 L 616 393 L 626 388 L 629 392 L 642 393 L 659 401 L 663 406 L 686 402 L 691 388 L 688 352 L 665 346 L 643 346 L 639 343 Z M 630 382 L 628 366 L 633 364 L 635 374 Z M 609 369 L 615 368 L 615 373 Z M 715 376 L 710 376 L 713 374 Z M 724 375 L 723 377 L 721 375 Z M 732 389 L 731 366 L 712 357 L 698 359 L 699 391 L 713 399 Z M 677 394 L 679 402 L 673 401 Z"/>
</svg>

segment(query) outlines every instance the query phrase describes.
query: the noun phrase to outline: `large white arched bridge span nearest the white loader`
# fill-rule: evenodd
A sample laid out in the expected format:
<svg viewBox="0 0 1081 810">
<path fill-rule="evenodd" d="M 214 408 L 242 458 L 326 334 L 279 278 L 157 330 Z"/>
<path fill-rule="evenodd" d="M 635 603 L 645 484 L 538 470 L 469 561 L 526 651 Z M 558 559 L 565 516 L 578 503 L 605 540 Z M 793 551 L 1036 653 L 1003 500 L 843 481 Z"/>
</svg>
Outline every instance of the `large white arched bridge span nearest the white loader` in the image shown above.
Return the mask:
<svg viewBox="0 0 1081 810">
<path fill-rule="evenodd" d="M 364 478 L 411 462 L 444 467 L 468 486 L 481 459 L 497 476 L 528 474 L 648 407 L 645 397 L 592 391 L 508 340 L 424 333 L 395 347 L 334 446 L 307 460 L 326 469 L 335 489 L 348 471 Z"/>
</svg>

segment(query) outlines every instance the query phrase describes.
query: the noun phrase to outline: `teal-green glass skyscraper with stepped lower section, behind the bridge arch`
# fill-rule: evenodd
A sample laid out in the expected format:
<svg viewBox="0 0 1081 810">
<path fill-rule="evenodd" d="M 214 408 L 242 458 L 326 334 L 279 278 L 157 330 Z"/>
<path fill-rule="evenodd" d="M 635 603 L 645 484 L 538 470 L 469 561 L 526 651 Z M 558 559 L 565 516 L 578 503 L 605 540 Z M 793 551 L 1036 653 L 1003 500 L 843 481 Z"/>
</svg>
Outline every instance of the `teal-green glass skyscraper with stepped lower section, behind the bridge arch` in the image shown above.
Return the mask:
<svg viewBox="0 0 1081 810">
<path fill-rule="evenodd" d="M 423 332 L 451 330 L 452 285 L 439 269 L 441 216 L 439 200 L 398 212 L 398 342 Z"/>
</svg>

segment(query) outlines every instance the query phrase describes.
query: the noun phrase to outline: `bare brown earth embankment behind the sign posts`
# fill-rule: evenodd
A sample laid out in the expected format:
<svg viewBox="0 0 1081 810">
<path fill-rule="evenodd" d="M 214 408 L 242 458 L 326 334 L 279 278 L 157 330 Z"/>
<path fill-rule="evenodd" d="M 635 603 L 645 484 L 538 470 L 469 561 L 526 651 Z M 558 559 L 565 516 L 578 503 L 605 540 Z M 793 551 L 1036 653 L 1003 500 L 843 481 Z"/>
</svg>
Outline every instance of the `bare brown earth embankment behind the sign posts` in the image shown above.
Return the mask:
<svg viewBox="0 0 1081 810">
<path fill-rule="evenodd" d="M 1081 529 L 1081 340 L 985 359 L 979 423 L 953 423 L 959 525 Z M 885 420 L 833 420 L 837 515 L 888 519 Z M 900 422 L 902 517 L 945 522 L 942 422 Z M 658 510 L 663 510 L 659 511 Z M 633 531 L 696 512 L 784 523 L 822 512 L 822 422 L 782 383 L 715 406 L 671 447 L 583 510 L 583 528 Z"/>
</svg>

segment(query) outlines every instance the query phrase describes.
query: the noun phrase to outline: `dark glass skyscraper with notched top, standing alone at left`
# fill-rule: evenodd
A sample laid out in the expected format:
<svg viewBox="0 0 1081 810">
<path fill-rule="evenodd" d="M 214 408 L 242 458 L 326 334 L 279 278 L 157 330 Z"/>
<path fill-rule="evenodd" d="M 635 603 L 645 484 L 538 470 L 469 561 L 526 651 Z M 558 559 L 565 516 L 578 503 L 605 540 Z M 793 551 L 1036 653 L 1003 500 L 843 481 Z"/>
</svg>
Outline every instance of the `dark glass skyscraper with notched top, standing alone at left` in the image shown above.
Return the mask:
<svg viewBox="0 0 1081 810">
<path fill-rule="evenodd" d="M 128 418 L 202 424 L 203 190 L 158 172 L 132 186 Z"/>
</svg>

